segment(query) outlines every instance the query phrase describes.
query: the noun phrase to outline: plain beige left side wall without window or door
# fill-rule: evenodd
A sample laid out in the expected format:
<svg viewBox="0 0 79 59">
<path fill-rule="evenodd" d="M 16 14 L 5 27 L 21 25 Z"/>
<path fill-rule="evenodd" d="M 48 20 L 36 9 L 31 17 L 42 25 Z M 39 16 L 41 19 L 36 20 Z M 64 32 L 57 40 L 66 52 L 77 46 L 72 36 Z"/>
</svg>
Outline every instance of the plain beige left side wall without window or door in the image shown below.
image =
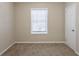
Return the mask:
<svg viewBox="0 0 79 59">
<path fill-rule="evenodd" d="M 0 53 L 14 42 L 13 3 L 0 2 Z"/>
</svg>

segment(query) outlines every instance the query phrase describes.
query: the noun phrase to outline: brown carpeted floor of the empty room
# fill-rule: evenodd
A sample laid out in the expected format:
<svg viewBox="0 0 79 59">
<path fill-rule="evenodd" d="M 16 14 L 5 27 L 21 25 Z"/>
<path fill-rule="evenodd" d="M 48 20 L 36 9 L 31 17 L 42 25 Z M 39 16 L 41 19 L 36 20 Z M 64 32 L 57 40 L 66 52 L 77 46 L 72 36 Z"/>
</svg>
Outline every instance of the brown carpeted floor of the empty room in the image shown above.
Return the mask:
<svg viewBox="0 0 79 59">
<path fill-rule="evenodd" d="M 8 49 L 3 56 L 77 56 L 63 43 L 18 43 Z"/>
</svg>

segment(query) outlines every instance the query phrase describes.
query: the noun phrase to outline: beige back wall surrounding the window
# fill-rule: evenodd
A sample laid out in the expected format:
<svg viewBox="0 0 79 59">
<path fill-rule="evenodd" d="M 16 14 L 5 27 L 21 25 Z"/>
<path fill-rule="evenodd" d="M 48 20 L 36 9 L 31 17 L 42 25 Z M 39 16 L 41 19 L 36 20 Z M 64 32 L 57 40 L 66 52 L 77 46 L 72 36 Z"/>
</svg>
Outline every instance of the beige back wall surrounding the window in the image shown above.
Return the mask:
<svg viewBox="0 0 79 59">
<path fill-rule="evenodd" d="M 31 34 L 31 8 L 48 8 L 48 34 Z M 16 41 L 64 41 L 64 3 L 16 3 Z"/>
</svg>

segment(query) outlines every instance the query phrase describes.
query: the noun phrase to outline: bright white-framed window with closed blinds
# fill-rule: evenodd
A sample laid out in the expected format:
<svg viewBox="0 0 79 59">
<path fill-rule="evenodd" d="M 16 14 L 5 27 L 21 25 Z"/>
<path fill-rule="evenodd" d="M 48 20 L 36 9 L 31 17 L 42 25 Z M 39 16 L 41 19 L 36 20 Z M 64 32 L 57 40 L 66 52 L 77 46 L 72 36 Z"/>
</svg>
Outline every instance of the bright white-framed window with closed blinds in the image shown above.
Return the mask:
<svg viewBox="0 0 79 59">
<path fill-rule="evenodd" d="M 31 33 L 32 34 L 47 34 L 47 8 L 32 8 L 31 9 Z"/>
</svg>

